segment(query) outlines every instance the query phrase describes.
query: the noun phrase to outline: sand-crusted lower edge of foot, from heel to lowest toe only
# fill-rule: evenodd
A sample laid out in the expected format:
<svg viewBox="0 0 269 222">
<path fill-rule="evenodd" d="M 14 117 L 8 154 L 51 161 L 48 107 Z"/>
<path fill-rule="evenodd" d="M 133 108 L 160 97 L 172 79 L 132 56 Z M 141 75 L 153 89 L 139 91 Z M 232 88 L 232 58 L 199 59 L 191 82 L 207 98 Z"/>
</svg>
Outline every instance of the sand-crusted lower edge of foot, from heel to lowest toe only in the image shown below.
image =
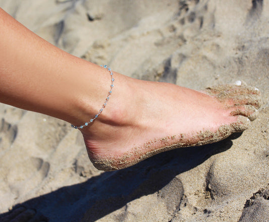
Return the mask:
<svg viewBox="0 0 269 222">
<path fill-rule="evenodd" d="M 218 142 L 230 136 L 235 132 L 243 132 L 247 129 L 250 120 L 247 117 L 239 116 L 237 122 L 231 125 L 221 126 L 216 132 L 205 130 L 203 132 L 193 133 L 192 136 L 180 134 L 155 138 L 146 142 L 142 146 L 131 148 L 128 152 L 121 155 L 115 154 L 97 154 L 90 152 L 90 160 L 94 167 L 102 171 L 115 171 L 130 167 L 150 156 L 168 150 L 188 147 L 201 146 L 208 143 Z"/>
</svg>

